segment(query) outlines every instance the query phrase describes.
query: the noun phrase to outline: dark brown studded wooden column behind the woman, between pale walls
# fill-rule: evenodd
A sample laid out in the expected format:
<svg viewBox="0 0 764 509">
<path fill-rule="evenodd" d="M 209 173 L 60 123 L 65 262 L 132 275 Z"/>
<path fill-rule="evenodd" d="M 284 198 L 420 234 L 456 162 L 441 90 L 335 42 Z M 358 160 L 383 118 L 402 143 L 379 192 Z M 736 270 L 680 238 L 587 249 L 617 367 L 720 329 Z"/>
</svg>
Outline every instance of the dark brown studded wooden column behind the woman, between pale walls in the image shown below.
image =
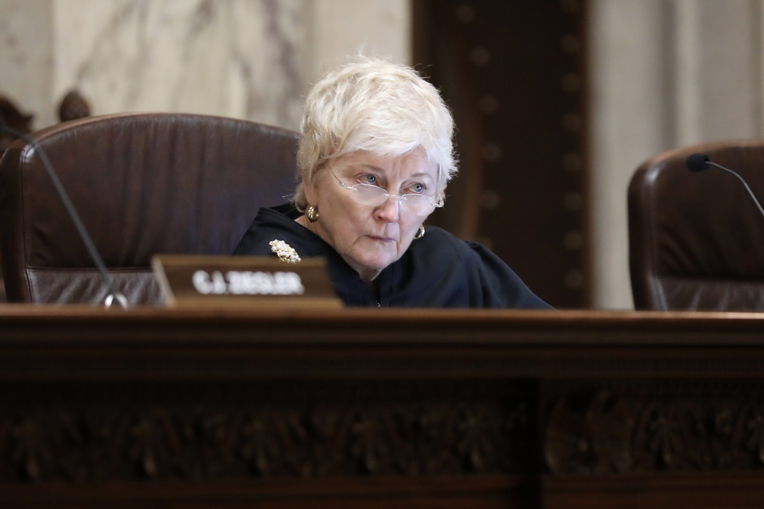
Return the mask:
<svg viewBox="0 0 764 509">
<path fill-rule="evenodd" d="M 586 2 L 413 5 L 414 62 L 454 112 L 461 159 L 432 222 L 553 306 L 588 306 Z"/>
</svg>

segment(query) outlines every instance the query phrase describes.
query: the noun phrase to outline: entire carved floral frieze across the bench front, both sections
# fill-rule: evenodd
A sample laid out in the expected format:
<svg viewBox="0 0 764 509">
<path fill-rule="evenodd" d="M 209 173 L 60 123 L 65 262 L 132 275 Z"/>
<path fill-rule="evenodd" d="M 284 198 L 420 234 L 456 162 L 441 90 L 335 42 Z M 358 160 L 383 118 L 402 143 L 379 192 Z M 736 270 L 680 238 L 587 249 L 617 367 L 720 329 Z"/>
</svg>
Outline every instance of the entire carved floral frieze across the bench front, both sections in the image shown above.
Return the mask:
<svg viewBox="0 0 764 509">
<path fill-rule="evenodd" d="M 52 391 L 50 387 L 56 387 Z M 0 482 L 764 469 L 762 381 L 0 384 Z"/>
</svg>

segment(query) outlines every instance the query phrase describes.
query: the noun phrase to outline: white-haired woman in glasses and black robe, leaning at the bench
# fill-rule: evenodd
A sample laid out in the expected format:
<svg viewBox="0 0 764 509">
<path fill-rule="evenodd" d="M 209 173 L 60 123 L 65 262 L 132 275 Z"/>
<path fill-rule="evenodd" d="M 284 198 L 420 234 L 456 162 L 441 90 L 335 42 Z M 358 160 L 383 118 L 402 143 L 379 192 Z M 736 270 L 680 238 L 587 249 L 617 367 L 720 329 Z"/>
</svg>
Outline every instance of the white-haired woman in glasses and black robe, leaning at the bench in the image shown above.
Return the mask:
<svg viewBox="0 0 764 509">
<path fill-rule="evenodd" d="M 348 306 L 549 307 L 487 248 L 423 225 L 456 165 L 451 114 L 414 70 L 364 58 L 329 72 L 300 128 L 293 201 L 261 209 L 235 254 L 283 241 L 323 257 Z"/>
</svg>

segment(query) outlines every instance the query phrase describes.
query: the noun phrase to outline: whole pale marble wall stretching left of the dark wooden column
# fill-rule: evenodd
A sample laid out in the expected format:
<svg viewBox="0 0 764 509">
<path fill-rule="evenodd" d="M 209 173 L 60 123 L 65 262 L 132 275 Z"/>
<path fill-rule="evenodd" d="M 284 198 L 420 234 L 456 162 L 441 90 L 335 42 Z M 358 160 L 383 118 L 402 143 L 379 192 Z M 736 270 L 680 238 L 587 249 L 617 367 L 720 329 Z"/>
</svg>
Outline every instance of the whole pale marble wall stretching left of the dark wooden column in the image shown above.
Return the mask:
<svg viewBox="0 0 764 509">
<path fill-rule="evenodd" d="M 0 90 L 35 128 L 73 88 L 95 115 L 297 128 L 309 84 L 346 55 L 410 60 L 409 11 L 409 0 L 0 0 L 0 41 L 15 41 L 0 46 Z"/>
</svg>

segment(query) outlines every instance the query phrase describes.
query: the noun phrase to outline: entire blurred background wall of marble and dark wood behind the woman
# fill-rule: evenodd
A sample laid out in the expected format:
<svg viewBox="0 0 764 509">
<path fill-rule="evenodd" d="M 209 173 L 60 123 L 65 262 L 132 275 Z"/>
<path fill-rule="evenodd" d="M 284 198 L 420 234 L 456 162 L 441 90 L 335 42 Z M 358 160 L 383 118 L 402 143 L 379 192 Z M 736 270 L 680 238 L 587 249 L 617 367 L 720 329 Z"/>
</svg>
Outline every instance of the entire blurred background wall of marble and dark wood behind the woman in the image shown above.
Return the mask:
<svg viewBox="0 0 764 509">
<path fill-rule="evenodd" d="M 0 93 L 34 128 L 57 122 L 71 89 L 94 115 L 296 128 L 316 76 L 359 49 L 438 82 L 458 113 L 467 190 L 454 187 L 458 214 L 438 220 L 558 306 L 632 306 L 626 186 L 639 163 L 764 135 L 764 0 L 0 0 Z M 548 154 L 522 155 L 552 138 Z"/>
</svg>

